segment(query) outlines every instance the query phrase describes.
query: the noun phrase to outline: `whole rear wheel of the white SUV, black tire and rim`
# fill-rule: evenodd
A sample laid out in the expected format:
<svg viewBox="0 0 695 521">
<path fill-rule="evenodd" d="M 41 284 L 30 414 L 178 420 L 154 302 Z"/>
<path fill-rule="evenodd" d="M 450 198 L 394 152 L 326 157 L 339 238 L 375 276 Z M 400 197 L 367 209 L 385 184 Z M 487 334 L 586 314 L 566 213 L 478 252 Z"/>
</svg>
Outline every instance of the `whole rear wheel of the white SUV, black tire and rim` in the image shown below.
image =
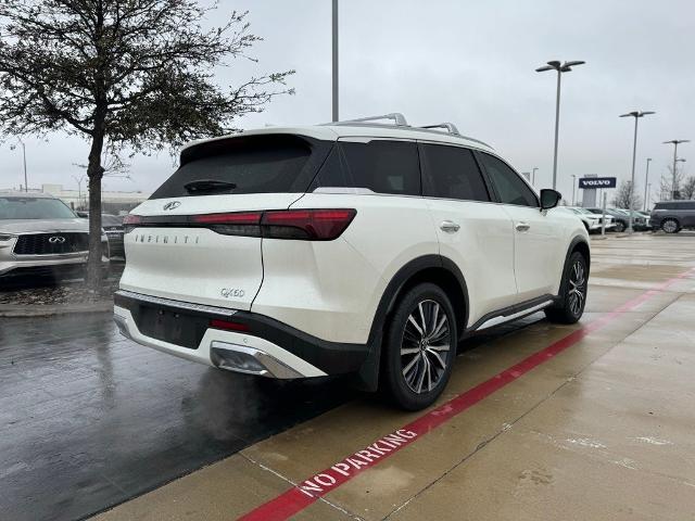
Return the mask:
<svg viewBox="0 0 695 521">
<path fill-rule="evenodd" d="M 382 391 L 406 410 L 431 405 L 448 382 L 457 342 L 456 317 L 446 293 L 432 283 L 416 285 L 399 301 L 386 325 Z"/>
</svg>

